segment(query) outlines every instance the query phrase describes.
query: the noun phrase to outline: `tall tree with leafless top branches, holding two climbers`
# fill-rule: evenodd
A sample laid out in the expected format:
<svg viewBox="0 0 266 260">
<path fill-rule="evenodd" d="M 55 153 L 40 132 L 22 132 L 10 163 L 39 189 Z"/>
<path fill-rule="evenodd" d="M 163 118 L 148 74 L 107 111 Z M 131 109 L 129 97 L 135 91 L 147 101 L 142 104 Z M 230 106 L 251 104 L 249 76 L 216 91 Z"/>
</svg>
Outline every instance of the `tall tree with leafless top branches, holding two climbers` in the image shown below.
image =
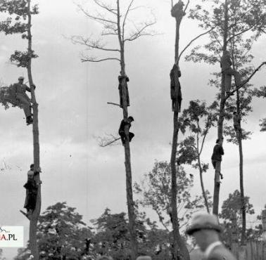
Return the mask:
<svg viewBox="0 0 266 260">
<path fill-rule="evenodd" d="M 132 11 L 136 10 L 137 7 L 134 7 L 134 0 L 129 1 L 129 5 L 125 8 L 125 13 L 122 13 L 122 8 L 120 6 L 120 0 L 116 0 L 116 6 L 111 6 L 103 3 L 99 0 L 94 0 L 94 4 L 99 8 L 100 11 L 104 13 L 93 15 L 86 11 L 82 6 L 80 10 L 91 20 L 99 22 L 103 25 L 103 31 L 101 35 L 104 37 L 114 36 L 118 39 L 118 48 L 111 48 L 103 44 L 101 39 L 91 39 L 81 36 L 72 37 L 72 41 L 75 44 L 82 44 L 89 49 L 97 51 L 106 51 L 117 53 L 117 56 L 108 56 L 106 58 L 95 58 L 93 56 L 84 55 L 82 57 L 83 62 L 101 62 L 106 60 L 116 60 L 120 63 L 120 77 L 121 77 L 121 86 L 122 86 L 122 113 L 123 119 L 128 120 L 128 110 L 127 105 L 127 74 L 125 70 L 125 44 L 130 41 L 139 39 L 139 37 L 152 35 L 148 30 L 149 27 L 155 24 L 155 18 L 145 22 L 137 22 L 129 19 L 129 15 Z M 132 30 L 131 32 L 128 29 Z M 118 105 L 118 104 L 115 104 Z M 118 105 L 120 106 L 120 105 Z M 131 169 L 131 156 L 130 156 L 130 145 L 129 145 L 129 125 L 125 126 L 125 171 L 126 171 L 126 189 L 127 189 L 127 211 L 129 216 L 129 232 L 130 240 L 132 245 L 132 259 L 135 259 L 137 256 L 137 234 L 136 228 L 134 226 L 135 216 L 134 216 L 134 200 L 132 194 L 132 169 Z"/>
</svg>

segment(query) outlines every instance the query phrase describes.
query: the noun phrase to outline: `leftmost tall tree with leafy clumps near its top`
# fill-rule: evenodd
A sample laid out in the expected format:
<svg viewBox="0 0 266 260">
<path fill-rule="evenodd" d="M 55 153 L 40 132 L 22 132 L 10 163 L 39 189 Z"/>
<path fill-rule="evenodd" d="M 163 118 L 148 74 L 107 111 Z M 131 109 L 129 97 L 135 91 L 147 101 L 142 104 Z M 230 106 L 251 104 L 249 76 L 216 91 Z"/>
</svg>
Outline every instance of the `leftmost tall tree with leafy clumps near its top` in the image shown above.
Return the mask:
<svg viewBox="0 0 266 260">
<path fill-rule="evenodd" d="M 8 13 L 10 16 L 0 23 L 0 30 L 5 34 L 22 34 L 23 39 L 27 39 L 27 51 L 15 51 L 11 55 L 11 62 L 18 67 L 27 69 L 27 76 L 32 93 L 33 110 L 33 158 L 34 171 L 39 169 L 39 126 L 38 126 L 38 104 L 34 93 L 34 83 L 32 79 L 32 58 L 37 55 L 32 50 L 32 15 L 39 13 L 38 6 L 31 6 L 30 0 L 3 0 L 0 2 L 0 11 Z M 35 181 L 40 183 L 39 172 L 34 176 Z M 41 186 L 38 186 L 37 202 L 32 217 L 30 219 L 30 249 L 34 259 L 39 259 L 37 247 L 37 221 L 41 211 Z"/>
</svg>

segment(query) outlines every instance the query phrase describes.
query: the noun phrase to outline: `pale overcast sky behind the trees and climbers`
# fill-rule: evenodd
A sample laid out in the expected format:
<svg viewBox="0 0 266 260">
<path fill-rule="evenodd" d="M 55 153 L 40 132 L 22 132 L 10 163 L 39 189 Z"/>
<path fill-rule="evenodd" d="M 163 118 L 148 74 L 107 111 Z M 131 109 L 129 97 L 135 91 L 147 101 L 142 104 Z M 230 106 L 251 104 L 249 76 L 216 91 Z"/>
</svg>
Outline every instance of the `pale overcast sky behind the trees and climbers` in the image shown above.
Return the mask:
<svg viewBox="0 0 266 260">
<path fill-rule="evenodd" d="M 80 53 L 84 48 L 68 39 L 72 35 L 95 37 L 101 26 L 78 11 L 72 0 L 40 0 L 40 13 L 32 19 L 33 48 L 39 55 L 32 64 L 36 95 L 39 103 L 39 140 L 41 149 L 42 210 L 56 202 L 66 201 L 84 216 L 89 224 L 110 208 L 112 212 L 126 211 L 125 165 L 122 145 L 100 148 L 96 137 L 116 134 L 122 110 L 107 102 L 118 103 L 119 63 L 81 63 Z M 78 1 L 76 1 L 78 2 Z M 91 1 L 79 1 L 87 4 Z M 127 0 L 122 1 L 127 4 Z M 155 160 L 170 160 L 172 140 L 172 112 L 170 103 L 169 72 L 174 62 L 175 20 L 170 16 L 170 0 L 136 0 L 136 5 L 147 5 L 156 15 L 154 37 L 142 37 L 125 48 L 127 74 L 130 78 L 129 115 L 134 116 L 131 143 L 133 181 L 140 181 L 150 171 Z M 94 12 L 95 6 L 88 6 Z M 150 13 L 146 11 L 146 13 Z M 137 12 L 137 11 L 136 11 Z M 132 19 L 146 19 L 139 11 Z M 184 20 L 180 44 L 186 44 L 201 30 L 196 23 Z M 207 38 L 202 38 L 202 44 Z M 111 46 L 117 39 L 108 38 Z M 253 48 L 254 66 L 266 60 L 265 37 Z M 15 49 L 26 48 L 26 41 L 18 35 L 6 37 L 1 34 L 0 79 L 5 84 L 16 82 L 18 76 L 27 75 L 26 70 L 8 63 Z M 101 55 L 94 53 L 94 55 Z M 105 53 L 102 54 L 103 56 Z M 180 62 L 182 70 L 182 93 L 186 108 L 189 100 L 206 100 L 215 97 L 215 89 L 208 86 L 210 72 L 219 70 L 219 65 L 210 67 L 203 63 Z M 26 79 L 27 81 L 27 79 Z M 252 79 L 255 86 L 265 84 L 265 70 Z M 32 128 L 26 126 L 23 110 L 11 108 L 0 110 L 1 145 L 0 163 L 7 166 L 0 175 L 0 224 L 24 226 L 25 241 L 28 239 L 29 223 L 20 214 L 25 200 L 23 184 L 32 163 Z M 251 140 L 243 141 L 244 187 L 251 197 L 256 213 L 264 207 L 266 135 L 259 131 L 259 119 L 266 117 L 265 100 L 253 100 L 253 112 L 244 127 L 253 131 Z M 216 129 L 210 132 L 203 151 L 203 160 L 210 162 L 216 139 Z M 184 136 L 180 136 L 180 139 Z M 224 143 L 225 155 L 222 172 L 224 181 L 220 189 L 220 201 L 239 188 L 238 149 Z M 194 172 L 187 168 L 189 171 Z M 198 175 L 191 193 L 201 193 Z M 204 176 L 205 188 L 213 192 L 213 171 Z M 3 210 L 4 209 L 4 210 Z M 154 215 L 151 215 L 152 217 Z M 5 249 L 10 258 L 16 249 Z"/>
</svg>

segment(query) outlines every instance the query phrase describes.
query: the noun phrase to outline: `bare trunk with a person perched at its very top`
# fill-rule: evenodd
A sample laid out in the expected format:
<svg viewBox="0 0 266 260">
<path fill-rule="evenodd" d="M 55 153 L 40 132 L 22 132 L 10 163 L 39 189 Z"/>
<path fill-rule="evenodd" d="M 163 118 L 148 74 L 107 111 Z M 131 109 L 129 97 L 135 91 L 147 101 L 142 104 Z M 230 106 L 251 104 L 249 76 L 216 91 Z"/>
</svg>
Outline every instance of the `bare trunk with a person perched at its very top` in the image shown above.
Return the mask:
<svg viewBox="0 0 266 260">
<path fill-rule="evenodd" d="M 182 18 L 175 17 L 176 20 L 176 38 L 175 38 L 175 63 L 178 63 L 179 58 L 179 27 Z M 189 260 L 189 251 L 179 233 L 179 221 L 177 216 L 177 168 L 175 162 L 177 160 L 177 139 L 178 139 L 178 112 L 175 110 L 174 117 L 174 130 L 172 134 L 172 151 L 171 151 L 171 204 L 172 204 L 172 230 L 174 238 L 174 257 L 177 259 Z"/>
</svg>

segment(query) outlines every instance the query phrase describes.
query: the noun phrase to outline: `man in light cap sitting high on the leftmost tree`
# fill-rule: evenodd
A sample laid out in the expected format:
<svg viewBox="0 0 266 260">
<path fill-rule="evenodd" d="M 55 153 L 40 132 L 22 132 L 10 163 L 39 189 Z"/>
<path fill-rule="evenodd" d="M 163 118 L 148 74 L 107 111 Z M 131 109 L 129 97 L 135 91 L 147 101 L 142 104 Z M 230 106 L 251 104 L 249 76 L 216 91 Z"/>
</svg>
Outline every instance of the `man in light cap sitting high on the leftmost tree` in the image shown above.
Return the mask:
<svg viewBox="0 0 266 260">
<path fill-rule="evenodd" d="M 32 124 L 32 112 L 31 112 L 31 100 L 27 96 L 26 91 L 30 92 L 30 88 L 23 84 L 24 77 L 18 78 L 18 83 L 13 84 L 13 91 L 15 94 L 16 100 L 21 103 L 23 110 L 25 112 L 27 125 Z M 34 85 L 33 85 L 34 86 Z M 35 86 L 34 86 L 35 89 Z"/>
</svg>

